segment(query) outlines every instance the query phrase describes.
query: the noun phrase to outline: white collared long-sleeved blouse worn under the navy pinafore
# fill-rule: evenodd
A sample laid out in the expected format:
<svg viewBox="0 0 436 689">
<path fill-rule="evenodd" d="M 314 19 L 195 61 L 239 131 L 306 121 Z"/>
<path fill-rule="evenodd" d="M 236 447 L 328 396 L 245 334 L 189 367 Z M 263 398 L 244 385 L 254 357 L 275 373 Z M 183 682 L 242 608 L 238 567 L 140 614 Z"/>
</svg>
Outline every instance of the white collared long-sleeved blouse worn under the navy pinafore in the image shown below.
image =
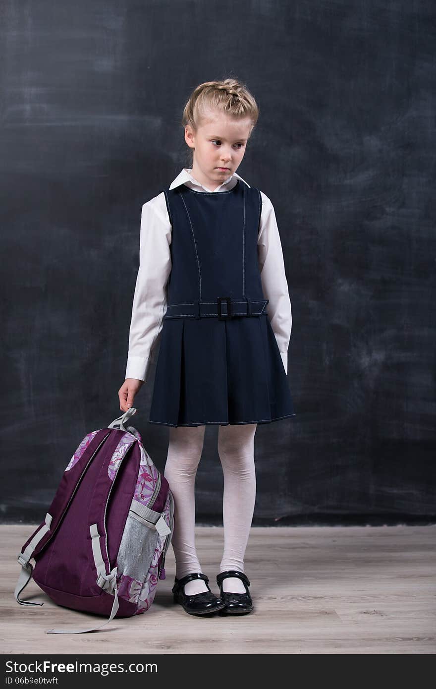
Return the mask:
<svg viewBox="0 0 436 689">
<path fill-rule="evenodd" d="M 231 189 L 238 179 L 245 182 L 236 172 L 223 181 L 221 187 Z M 184 167 L 169 186 L 174 189 L 185 184 L 196 191 L 211 193 L 192 175 L 191 168 Z M 258 234 L 258 265 L 262 280 L 262 291 L 269 304 L 268 313 L 284 371 L 288 371 L 287 351 L 291 339 L 291 299 L 284 270 L 282 244 L 278 232 L 276 214 L 271 200 L 263 192 L 260 229 Z M 142 207 L 139 247 L 139 269 L 134 291 L 132 320 L 129 330 L 129 351 L 125 378 L 147 380 L 149 367 L 160 342 L 163 316 L 167 310 L 168 278 L 172 269 L 169 245 L 172 242 L 172 226 L 169 222 L 165 194 L 150 199 Z"/>
</svg>

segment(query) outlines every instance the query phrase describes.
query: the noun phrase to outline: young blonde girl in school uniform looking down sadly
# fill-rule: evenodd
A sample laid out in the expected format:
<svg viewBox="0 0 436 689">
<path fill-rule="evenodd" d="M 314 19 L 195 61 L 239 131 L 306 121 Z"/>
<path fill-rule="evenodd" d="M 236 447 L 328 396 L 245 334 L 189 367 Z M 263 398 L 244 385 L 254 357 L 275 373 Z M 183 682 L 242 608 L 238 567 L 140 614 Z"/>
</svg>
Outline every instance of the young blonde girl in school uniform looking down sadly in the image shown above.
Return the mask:
<svg viewBox="0 0 436 689">
<path fill-rule="evenodd" d="M 271 200 L 238 169 L 258 106 L 235 79 L 209 81 L 183 112 L 191 167 L 143 205 L 129 331 L 127 411 L 160 342 L 149 422 L 169 426 L 174 601 L 191 615 L 253 610 L 244 555 L 256 497 L 257 424 L 295 416 L 287 382 L 291 301 Z M 224 553 L 214 595 L 194 541 L 205 426 L 218 429 Z"/>
</svg>

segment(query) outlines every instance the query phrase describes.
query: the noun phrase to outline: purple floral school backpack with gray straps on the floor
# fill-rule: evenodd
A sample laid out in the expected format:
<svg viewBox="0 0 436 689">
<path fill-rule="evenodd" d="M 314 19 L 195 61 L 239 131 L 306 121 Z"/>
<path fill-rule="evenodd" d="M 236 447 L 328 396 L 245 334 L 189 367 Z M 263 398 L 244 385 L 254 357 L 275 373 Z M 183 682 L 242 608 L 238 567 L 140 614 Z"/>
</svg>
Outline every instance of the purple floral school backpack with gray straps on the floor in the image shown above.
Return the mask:
<svg viewBox="0 0 436 689">
<path fill-rule="evenodd" d="M 85 435 L 66 467 L 45 521 L 25 542 L 15 599 L 33 577 L 58 605 L 109 615 L 98 627 L 47 630 L 80 634 L 152 605 L 174 532 L 174 498 L 141 435 L 125 422 Z M 34 558 L 32 568 L 30 559 Z"/>
</svg>

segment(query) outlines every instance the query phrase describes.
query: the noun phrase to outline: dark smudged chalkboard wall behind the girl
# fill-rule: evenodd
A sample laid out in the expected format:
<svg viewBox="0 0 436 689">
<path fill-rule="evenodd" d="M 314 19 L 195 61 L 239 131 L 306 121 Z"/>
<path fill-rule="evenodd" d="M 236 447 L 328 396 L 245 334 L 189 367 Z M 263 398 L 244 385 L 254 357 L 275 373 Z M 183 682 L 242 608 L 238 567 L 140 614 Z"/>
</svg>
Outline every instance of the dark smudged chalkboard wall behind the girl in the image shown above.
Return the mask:
<svg viewBox="0 0 436 689">
<path fill-rule="evenodd" d="M 434 3 L 1 3 L 0 515 L 40 522 L 119 413 L 141 206 L 187 165 L 200 82 L 260 119 L 238 172 L 273 201 L 293 307 L 294 419 L 258 426 L 253 525 L 432 519 Z M 155 358 L 156 362 L 156 358 Z M 168 429 L 136 425 L 158 467 Z M 198 524 L 220 524 L 208 426 Z"/>
</svg>

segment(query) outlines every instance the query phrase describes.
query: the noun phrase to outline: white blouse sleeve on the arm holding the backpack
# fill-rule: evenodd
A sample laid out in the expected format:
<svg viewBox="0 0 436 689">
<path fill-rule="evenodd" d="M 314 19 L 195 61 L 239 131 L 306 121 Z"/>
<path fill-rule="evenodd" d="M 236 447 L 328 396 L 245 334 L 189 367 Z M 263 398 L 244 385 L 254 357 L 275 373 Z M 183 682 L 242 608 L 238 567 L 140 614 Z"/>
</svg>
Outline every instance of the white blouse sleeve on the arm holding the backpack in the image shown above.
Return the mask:
<svg viewBox="0 0 436 689">
<path fill-rule="evenodd" d="M 143 205 L 139 269 L 134 291 L 125 378 L 147 380 L 167 310 L 167 283 L 172 269 L 169 223 L 163 193 Z"/>
</svg>

